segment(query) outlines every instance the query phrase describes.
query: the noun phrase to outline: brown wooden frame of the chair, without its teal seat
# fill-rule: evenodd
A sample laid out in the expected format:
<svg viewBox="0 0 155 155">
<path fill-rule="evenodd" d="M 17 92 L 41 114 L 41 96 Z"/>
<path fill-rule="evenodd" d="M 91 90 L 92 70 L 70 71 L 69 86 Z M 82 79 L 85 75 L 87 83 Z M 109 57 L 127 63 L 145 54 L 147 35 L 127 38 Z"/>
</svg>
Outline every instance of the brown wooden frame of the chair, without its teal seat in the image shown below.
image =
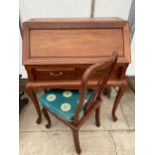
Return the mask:
<svg viewBox="0 0 155 155">
<path fill-rule="evenodd" d="M 59 119 L 60 121 L 62 121 L 64 124 L 66 124 L 68 127 L 71 128 L 73 133 L 75 149 L 78 154 L 81 153 L 80 142 L 79 142 L 79 129 L 92 116 L 93 112 L 95 112 L 96 126 L 97 127 L 100 126 L 100 105 L 102 102 L 101 96 L 102 96 L 103 90 L 106 87 L 107 81 L 110 78 L 110 74 L 112 73 L 116 65 L 117 58 L 118 58 L 118 55 L 115 52 L 112 54 L 110 58 L 107 59 L 107 61 L 96 63 L 86 69 L 86 71 L 82 76 L 81 85 L 79 89 L 80 91 L 79 103 L 77 104 L 77 109 L 76 109 L 73 121 L 71 123 L 59 117 L 58 115 L 50 111 L 50 109 L 46 107 L 42 108 L 43 114 L 48 122 L 48 124 L 46 125 L 46 128 L 49 128 L 51 126 L 51 121 L 50 121 L 48 112 L 53 114 L 57 119 Z M 108 73 L 105 76 L 104 72 L 102 72 L 100 78 L 97 81 L 97 85 L 94 88 L 93 94 L 90 96 L 90 98 L 88 99 L 87 105 L 85 106 L 84 116 L 80 118 L 80 112 L 84 107 L 85 94 L 88 89 L 89 78 L 96 71 L 101 71 L 101 70 L 102 71 L 106 70 Z"/>
</svg>

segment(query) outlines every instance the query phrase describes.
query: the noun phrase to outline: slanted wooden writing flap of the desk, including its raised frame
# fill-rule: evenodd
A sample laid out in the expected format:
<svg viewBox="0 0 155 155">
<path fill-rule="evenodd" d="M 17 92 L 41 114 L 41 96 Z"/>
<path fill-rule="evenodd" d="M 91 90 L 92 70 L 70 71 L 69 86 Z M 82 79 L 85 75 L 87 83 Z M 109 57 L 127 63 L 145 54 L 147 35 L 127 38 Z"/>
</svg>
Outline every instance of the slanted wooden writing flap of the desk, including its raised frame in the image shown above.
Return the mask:
<svg viewBox="0 0 155 155">
<path fill-rule="evenodd" d="M 68 27 L 65 27 L 67 22 L 60 21 L 62 26 L 56 28 L 52 27 L 52 20 L 51 23 L 27 22 L 23 40 L 24 64 L 94 63 L 113 51 L 118 52 L 120 62 L 130 62 L 127 22 L 100 20 L 99 23 L 93 21 L 91 26 L 92 21 L 85 27 L 82 22 L 80 27 L 79 20 Z"/>
</svg>

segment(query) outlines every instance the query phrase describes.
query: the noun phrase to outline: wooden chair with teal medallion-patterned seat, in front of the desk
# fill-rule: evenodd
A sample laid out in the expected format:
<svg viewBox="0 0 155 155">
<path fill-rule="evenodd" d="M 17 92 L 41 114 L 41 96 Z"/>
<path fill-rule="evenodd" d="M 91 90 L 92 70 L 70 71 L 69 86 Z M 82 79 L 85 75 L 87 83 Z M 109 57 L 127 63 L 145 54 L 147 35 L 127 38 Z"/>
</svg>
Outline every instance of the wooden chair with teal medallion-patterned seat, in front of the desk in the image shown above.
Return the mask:
<svg viewBox="0 0 155 155">
<path fill-rule="evenodd" d="M 95 112 L 96 126 L 100 126 L 100 104 L 101 96 L 105 89 L 110 74 L 117 62 L 118 55 L 114 52 L 107 60 L 91 65 L 86 69 L 81 80 L 80 90 L 60 90 L 53 89 L 46 91 L 39 98 L 42 105 L 42 112 L 48 124 L 51 120 L 48 113 L 53 114 L 58 120 L 62 121 L 71 128 L 76 152 L 81 153 L 79 143 L 79 129 Z M 94 90 L 87 89 L 88 79 L 95 72 L 103 71 L 101 78 Z M 106 74 L 105 74 L 105 72 Z"/>
</svg>

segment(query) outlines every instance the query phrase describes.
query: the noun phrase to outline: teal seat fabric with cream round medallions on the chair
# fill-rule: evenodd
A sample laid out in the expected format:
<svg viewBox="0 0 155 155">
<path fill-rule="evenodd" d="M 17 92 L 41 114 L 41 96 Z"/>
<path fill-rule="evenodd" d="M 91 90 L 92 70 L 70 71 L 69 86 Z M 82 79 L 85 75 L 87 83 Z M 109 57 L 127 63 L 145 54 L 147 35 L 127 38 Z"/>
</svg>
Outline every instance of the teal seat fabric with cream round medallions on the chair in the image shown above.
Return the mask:
<svg viewBox="0 0 155 155">
<path fill-rule="evenodd" d="M 84 115 L 84 107 L 93 90 L 87 90 L 85 95 L 85 102 L 80 117 Z M 52 89 L 39 98 L 42 106 L 46 107 L 53 113 L 59 115 L 68 122 L 72 122 L 77 105 L 79 103 L 80 93 L 78 90 L 62 90 Z"/>
</svg>

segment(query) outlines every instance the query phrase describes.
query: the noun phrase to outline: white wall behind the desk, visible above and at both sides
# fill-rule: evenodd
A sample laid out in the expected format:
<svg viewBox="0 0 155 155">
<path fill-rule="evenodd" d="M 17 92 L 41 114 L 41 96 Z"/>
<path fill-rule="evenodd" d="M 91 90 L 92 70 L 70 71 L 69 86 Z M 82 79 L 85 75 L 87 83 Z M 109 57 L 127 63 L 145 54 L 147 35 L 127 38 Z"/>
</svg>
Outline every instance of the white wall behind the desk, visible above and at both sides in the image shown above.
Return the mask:
<svg viewBox="0 0 155 155">
<path fill-rule="evenodd" d="M 94 17 L 128 18 L 132 0 L 96 0 Z M 91 0 L 20 0 L 21 20 L 29 18 L 89 18 L 91 14 Z M 27 77 L 22 66 L 22 45 L 20 38 L 20 66 L 19 72 L 23 78 Z M 131 45 L 132 64 L 127 74 L 134 75 L 134 40 Z"/>
</svg>

